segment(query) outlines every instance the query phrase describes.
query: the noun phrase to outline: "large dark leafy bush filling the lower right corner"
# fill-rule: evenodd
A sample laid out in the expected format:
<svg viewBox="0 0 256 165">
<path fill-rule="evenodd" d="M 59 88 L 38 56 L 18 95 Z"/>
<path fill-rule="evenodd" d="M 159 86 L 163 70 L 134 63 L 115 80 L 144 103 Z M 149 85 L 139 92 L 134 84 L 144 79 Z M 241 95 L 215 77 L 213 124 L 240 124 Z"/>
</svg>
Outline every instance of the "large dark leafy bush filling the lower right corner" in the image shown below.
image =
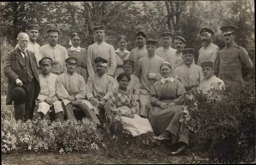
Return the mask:
<svg viewBox="0 0 256 165">
<path fill-rule="evenodd" d="M 187 103 L 190 120 L 185 122 L 192 143 L 204 146 L 210 162 L 255 161 L 255 81 L 246 81 L 242 92 L 194 95 L 198 102 Z"/>
</svg>

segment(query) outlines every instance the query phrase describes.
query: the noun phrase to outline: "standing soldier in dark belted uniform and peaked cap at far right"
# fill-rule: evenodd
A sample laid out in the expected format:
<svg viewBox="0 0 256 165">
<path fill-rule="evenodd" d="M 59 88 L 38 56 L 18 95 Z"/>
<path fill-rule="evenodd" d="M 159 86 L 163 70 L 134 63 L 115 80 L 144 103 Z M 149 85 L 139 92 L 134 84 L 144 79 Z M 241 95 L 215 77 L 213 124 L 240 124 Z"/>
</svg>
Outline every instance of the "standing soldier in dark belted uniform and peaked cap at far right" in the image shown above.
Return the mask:
<svg viewBox="0 0 256 165">
<path fill-rule="evenodd" d="M 225 37 L 225 47 L 217 54 L 215 75 L 224 81 L 228 90 L 240 90 L 243 77 L 251 72 L 253 64 L 248 52 L 234 43 L 236 26 L 225 25 L 220 28 Z"/>
</svg>

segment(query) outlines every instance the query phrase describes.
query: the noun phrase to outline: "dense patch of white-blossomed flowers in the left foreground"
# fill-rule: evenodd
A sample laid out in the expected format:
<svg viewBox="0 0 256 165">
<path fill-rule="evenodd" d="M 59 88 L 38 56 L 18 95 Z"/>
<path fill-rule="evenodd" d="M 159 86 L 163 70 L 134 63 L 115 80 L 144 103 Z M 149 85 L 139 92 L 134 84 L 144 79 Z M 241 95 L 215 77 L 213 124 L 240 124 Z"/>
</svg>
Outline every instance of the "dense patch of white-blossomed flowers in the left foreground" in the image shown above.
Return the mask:
<svg viewBox="0 0 256 165">
<path fill-rule="evenodd" d="M 2 97 L 2 101 L 5 102 L 5 98 Z M 22 122 L 14 120 L 11 106 L 2 106 L 2 153 L 91 152 L 102 148 L 103 134 L 88 118 L 63 124 L 39 117 Z"/>
</svg>

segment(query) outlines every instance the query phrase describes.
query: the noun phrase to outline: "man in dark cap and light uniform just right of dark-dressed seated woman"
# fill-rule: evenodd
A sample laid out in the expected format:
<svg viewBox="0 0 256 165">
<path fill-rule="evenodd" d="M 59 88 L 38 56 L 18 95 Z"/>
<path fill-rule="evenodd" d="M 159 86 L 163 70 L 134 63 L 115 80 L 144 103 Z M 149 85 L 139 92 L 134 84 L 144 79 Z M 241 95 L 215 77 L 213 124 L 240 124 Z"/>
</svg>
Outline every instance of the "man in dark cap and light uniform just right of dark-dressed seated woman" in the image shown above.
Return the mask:
<svg viewBox="0 0 256 165">
<path fill-rule="evenodd" d="M 183 82 L 186 92 L 190 93 L 203 81 L 203 72 L 202 68 L 193 62 L 194 49 L 182 49 L 182 60 L 184 64 L 175 69 L 173 76 Z"/>
</svg>

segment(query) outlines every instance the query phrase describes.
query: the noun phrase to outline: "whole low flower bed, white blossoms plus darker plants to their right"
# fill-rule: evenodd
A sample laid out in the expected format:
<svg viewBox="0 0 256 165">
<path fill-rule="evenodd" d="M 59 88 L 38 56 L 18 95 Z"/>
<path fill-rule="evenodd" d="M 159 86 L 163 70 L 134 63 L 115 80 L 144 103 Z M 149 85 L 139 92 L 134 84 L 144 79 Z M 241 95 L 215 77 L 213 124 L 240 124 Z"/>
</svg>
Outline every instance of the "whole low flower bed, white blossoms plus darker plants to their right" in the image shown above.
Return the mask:
<svg viewBox="0 0 256 165">
<path fill-rule="evenodd" d="M 2 96 L 2 102 L 5 102 Z M 46 153 L 60 154 L 105 153 L 108 157 L 146 157 L 155 159 L 162 157 L 169 150 L 159 148 L 152 143 L 146 133 L 133 137 L 122 127 L 122 121 L 112 119 L 104 123 L 102 128 L 96 122 L 83 118 L 81 121 L 49 122 L 34 117 L 27 122 L 15 121 L 11 105 L 2 104 L 2 154 L 14 153 Z M 159 152 L 160 150 L 160 152 Z M 161 152 L 162 151 L 162 152 Z"/>
</svg>

